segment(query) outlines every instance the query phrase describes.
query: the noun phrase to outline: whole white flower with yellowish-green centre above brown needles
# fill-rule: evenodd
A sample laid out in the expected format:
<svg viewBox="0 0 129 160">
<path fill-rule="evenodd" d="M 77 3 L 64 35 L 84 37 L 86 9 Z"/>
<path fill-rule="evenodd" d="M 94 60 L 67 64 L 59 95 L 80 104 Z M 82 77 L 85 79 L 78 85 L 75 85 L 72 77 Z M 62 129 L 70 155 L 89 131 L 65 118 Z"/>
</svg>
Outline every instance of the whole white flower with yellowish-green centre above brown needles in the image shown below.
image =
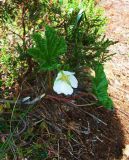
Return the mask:
<svg viewBox="0 0 129 160">
<path fill-rule="evenodd" d="M 53 90 L 58 94 L 71 95 L 73 88 L 78 87 L 78 81 L 74 74 L 74 72 L 60 71 L 55 79 Z"/>
</svg>

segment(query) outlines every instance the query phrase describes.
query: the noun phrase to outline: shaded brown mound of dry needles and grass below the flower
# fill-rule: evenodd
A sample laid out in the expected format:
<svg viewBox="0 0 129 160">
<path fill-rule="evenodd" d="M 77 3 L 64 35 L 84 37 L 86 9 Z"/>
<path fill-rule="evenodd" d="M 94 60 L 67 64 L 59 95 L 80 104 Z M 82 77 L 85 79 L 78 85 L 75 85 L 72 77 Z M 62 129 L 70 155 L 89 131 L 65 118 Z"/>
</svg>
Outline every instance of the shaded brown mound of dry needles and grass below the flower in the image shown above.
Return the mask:
<svg viewBox="0 0 129 160">
<path fill-rule="evenodd" d="M 23 157 L 28 160 L 121 160 L 125 139 L 117 113 L 89 106 L 93 99 L 87 93 L 67 98 L 44 97 L 24 120 L 24 132 L 14 136 Z M 18 106 L 17 110 L 24 113 L 26 107 Z M 13 159 L 10 151 L 7 154 Z"/>
</svg>

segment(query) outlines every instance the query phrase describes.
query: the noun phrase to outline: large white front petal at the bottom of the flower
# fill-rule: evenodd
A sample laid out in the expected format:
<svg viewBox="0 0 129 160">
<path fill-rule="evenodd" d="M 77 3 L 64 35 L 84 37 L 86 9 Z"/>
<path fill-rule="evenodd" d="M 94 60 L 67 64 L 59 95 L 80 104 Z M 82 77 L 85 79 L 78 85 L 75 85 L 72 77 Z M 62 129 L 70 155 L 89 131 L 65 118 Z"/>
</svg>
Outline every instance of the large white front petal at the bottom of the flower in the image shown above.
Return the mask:
<svg viewBox="0 0 129 160">
<path fill-rule="evenodd" d="M 72 87 L 61 80 L 55 81 L 53 90 L 58 94 L 64 93 L 65 95 L 71 95 L 73 93 Z"/>
</svg>

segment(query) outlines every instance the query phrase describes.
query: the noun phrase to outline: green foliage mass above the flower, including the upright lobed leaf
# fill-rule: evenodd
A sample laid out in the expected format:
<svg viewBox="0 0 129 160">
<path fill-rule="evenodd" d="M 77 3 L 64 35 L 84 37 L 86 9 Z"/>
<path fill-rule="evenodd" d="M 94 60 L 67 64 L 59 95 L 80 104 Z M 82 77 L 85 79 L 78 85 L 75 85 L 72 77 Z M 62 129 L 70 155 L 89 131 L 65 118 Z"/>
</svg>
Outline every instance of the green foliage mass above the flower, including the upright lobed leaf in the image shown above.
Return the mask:
<svg viewBox="0 0 129 160">
<path fill-rule="evenodd" d="M 85 67 L 93 68 L 96 62 L 103 64 L 112 56 L 108 47 L 115 42 L 104 36 L 107 19 L 103 9 L 95 6 L 94 0 L 58 2 L 7 0 L 1 6 L 2 38 L 8 41 L 8 49 L 1 57 L 1 66 L 6 68 L 1 68 L 1 74 L 6 70 L 9 77 L 6 86 L 13 84 L 20 70 L 26 70 L 22 66 L 35 66 L 29 64 L 28 55 L 38 62 L 40 70 L 55 70 L 63 63 L 64 69 L 74 70 L 78 75 Z M 44 35 L 39 34 L 47 25 L 51 27 L 46 27 Z M 67 52 L 65 40 L 52 27 L 65 37 Z M 33 33 L 35 45 L 30 36 Z M 4 48 L 2 43 L 1 46 Z"/>
</svg>

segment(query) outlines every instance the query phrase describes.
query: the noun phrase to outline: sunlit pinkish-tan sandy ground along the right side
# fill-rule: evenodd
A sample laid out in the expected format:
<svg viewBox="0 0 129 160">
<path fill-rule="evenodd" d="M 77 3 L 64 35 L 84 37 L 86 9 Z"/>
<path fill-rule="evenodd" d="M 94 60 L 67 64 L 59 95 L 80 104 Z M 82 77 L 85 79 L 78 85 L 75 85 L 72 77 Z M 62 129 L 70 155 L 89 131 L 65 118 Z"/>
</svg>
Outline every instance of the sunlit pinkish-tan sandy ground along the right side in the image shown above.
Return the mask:
<svg viewBox="0 0 129 160">
<path fill-rule="evenodd" d="M 109 79 L 109 94 L 123 126 L 126 155 L 129 157 L 129 0 L 102 0 L 100 5 L 109 18 L 106 35 L 118 41 L 110 47 L 110 53 L 116 55 L 107 62 L 105 71 Z"/>
</svg>

